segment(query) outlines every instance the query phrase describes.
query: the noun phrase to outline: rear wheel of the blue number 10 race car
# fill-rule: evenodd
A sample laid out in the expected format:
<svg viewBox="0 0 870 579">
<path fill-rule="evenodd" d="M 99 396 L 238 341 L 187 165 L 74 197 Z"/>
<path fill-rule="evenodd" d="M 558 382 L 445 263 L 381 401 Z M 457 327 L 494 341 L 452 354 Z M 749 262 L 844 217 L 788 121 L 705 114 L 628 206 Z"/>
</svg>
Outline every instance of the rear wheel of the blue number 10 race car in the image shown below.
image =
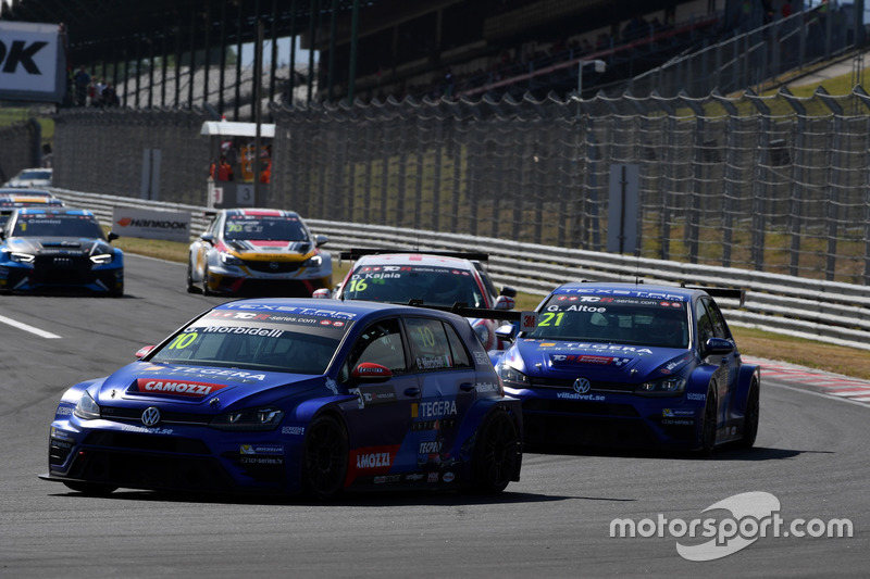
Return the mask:
<svg viewBox="0 0 870 579">
<path fill-rule="evenodd" d="M 472 455 L 472 492 L 498 494 L 513 479 L 520 461 L 517 423 L 504 410 L 496 410 L 477 429 Z"/>
</svg>

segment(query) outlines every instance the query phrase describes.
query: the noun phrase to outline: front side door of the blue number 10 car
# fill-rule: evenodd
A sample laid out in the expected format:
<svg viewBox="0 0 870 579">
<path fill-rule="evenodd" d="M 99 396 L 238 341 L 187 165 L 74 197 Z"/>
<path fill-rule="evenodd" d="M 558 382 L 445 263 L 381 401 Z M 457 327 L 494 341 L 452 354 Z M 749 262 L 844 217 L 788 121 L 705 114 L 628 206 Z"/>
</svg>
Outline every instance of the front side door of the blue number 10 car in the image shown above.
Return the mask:
<svg viewBox="0 0 870 579">
<path fill-rule="evenodd" d="M 361 364 L 377 364 L 391 376 L 355 377 Z M 420 400 L 418 377 L 409 370 L 408 348 L 397 317 L 373 322 L 358 335 L 339 380 L 358 397 L 356 405 L 345 408 L 350 437 L 348 481 L 393 481 L 387 477 L 407 468 L 399 450 L 411 428 L 412 403 Z"/>
</svg>

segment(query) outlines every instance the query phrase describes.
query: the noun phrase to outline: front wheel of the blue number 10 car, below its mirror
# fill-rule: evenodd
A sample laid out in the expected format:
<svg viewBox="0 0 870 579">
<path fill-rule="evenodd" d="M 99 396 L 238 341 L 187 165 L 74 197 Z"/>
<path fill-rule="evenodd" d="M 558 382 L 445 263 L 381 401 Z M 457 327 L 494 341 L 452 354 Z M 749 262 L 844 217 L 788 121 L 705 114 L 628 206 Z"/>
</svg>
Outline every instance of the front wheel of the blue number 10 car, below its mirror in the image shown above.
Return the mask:
<svg viewBox="0 0 870 579">
<path fill-rule="evenodd" d="M 302 449 L 302 491 L 318 500 L 341 493 L 350 445 L 344 426 L 332 416 L 320 416 L 308 427 Z"/>
</svg>

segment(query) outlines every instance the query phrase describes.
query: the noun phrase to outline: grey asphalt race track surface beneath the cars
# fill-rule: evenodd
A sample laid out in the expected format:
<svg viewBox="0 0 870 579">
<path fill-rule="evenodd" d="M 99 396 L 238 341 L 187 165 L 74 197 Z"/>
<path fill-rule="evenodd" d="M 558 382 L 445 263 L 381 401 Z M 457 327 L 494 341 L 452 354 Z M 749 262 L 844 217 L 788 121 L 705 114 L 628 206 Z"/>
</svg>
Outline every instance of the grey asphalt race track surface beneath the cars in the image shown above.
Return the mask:
<svg viewBox="0 0 870 579">
<path fill-rule="evenodd" d="M 222 301 L 186 293 L 184 277 L 183 265 L 128 256 L 123 299 L 0 297 L 0 577 L 867 576 L 870 405 L 860 399 L 870 388 L 768 362 L 754 450 L 526 454 L 522 480 L 496 498 L 100 499 L 39 480 L 67 386 L 132 361 Z M 743 493 L 779 507 L 748 517 Z M 720 501 L 729 508 L 704 512 Z M 774 515 L 780 530 L 760 537 Z M 616 519 L 634 524 L 635 537 L 611 537 Z M 810 537 L 835 519 L 852 524 L 850 538 Z M 712 540 L 705 523 L 726 539 L 707 550 L 716 558 L 681 555 L 678 544 Z M 694 539 L 676 537 L 692 524 Z"/>
</svg>

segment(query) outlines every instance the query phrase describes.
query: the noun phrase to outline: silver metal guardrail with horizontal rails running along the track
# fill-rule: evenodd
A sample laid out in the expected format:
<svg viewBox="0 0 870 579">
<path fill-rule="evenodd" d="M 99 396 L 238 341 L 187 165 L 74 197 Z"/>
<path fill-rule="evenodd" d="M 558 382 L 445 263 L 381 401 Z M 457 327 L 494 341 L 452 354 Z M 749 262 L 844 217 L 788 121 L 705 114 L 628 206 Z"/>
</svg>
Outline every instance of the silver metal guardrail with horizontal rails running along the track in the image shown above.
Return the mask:
<svg viewBox="0 0 870 579">
<path fill-rule="evenodd" d="M 53 192 L 67 205 L 94 211 L 103 223 L 111 221 L 115 206 L 189 211 L 194 236 L 209 223 L 201 206 L 64 189 Z M 518 246 L 505 239 L 438 231 L 319 219 L 307 223 L 315 232 L 330 236 L 328 249 L 336 259 L 338 252 L 357 247 L 485 252 L 496 284 L 532 294 L 544 295 L 559 284 L 577 280 L 744 288 L 743 305 L 735 300 L 719 300 L 733 325 L 870 350 L 870 290 L 863 286 L 550 246 Z"/>
</svg>

